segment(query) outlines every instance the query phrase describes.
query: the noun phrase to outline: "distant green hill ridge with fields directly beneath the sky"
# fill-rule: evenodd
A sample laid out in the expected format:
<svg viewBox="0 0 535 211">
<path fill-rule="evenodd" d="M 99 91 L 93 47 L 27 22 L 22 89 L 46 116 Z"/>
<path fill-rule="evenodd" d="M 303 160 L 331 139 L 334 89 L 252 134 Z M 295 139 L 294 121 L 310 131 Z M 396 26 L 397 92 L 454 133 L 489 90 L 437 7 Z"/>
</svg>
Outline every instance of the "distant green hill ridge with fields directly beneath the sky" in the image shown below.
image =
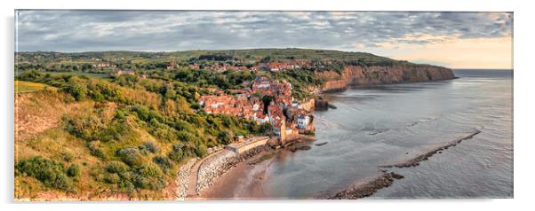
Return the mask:
<svg viewBox="0 0 535 211">
<path fill-rule="evenodd" d="M 262 59 L 286 61 L 293 59 L 304 60 L 339 60 L 362 61 L 363 63 L 398 63 L 401 60 L 380 57 L 367 52 L 349 52 L 314 49 L 249 49 L 249 50 L 214 50 L 214 51 L 172 51 L 172 52 L 146 52 L 146 51 L 89 51 L 89 52 L 52 52 L 52 51 L 25 51 L 18 52 L 19 62 L 58 62 L 61 60 L 84 61 L 102 59 L 109 61 L 131 60 L 144 62 L 148 60 L 188 61 L 198 59 L 204 55 L 220 55 L 228 59 L 245 62 L 259 62 Z"/>
</svg>

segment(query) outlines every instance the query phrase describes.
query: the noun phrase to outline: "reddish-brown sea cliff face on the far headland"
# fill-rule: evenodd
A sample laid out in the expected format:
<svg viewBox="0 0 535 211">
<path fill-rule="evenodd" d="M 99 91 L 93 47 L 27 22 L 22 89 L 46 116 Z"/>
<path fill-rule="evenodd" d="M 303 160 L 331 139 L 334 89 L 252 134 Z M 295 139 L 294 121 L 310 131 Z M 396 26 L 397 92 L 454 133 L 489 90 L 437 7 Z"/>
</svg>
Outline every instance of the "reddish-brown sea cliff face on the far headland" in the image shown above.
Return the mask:
<svg viewBox="0 0 535 211">
<path fill-rule="evenodd" d="M 455 78 L 451 69 L 440 66 L 346 66 L 341 74 L 317 73 L 326 80 L 322 91 L 344 90 L 349 85 L 379 85 L 400 82 L 427 82 Z"/>
</svg>

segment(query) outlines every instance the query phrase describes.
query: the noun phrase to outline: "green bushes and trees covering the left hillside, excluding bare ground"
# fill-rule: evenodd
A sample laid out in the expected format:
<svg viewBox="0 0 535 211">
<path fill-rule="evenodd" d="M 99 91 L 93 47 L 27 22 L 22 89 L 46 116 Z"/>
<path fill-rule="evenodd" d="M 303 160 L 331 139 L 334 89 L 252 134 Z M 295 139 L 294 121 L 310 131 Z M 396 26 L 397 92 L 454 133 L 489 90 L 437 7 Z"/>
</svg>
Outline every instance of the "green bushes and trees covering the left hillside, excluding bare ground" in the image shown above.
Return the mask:
<svg viewBox="0 0 535 211">
<path fill-rule="evenodd" d="M 54 106 L 92 105 L 61 114 L 59 128 L 32 137 L 28 144 L 20 142 L 22 151 L 28 148 L 32 153 L 23 153 L 17 160 L 17 179 L 35 178 L 45 190 L 81 194 L 106 187 L 112 191 L 100 194 L 172 197 L 164 189 L 188 157 L 203 157 L 208 147 L 228 144 L 231 137 L 266 130 L 243 118 L 195 113 L 192 107 L 201 91 L 192 83 L 124 75 L 105 80 L 36 71 L 20 74 L 18 79 L 56 88 L 50 91 L 65 97 L 36 95 L 62 100 Z M 76 145 L 79 157 L 37 144 L 47 140 L 55 140 L 54 145 Z M 33 186 L 33 182 L 26 184 L 19 192 L 30 192 Z"/>
</svg>

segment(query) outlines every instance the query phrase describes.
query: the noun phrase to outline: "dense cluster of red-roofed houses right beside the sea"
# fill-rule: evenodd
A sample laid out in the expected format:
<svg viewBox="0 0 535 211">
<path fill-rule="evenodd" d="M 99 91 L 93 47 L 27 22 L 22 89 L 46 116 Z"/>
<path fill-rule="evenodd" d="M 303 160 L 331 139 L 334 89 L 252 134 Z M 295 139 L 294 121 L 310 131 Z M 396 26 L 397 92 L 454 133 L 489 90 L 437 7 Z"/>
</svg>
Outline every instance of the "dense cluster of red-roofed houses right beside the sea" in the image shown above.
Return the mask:
<svg viewBox="0 0 535 211">
<path fill-rule="evenodd" d="M 291 97 L 290 82 L 273 82 L 258 77 L 251 87 L 242 90 L 213 90 L 198 99 L 205 113 L 224 113 L 269 124 L 281 144 L 296 140 L 299 134 L 313 134 L 314 99 L 303 101 Z"/>
</svg>

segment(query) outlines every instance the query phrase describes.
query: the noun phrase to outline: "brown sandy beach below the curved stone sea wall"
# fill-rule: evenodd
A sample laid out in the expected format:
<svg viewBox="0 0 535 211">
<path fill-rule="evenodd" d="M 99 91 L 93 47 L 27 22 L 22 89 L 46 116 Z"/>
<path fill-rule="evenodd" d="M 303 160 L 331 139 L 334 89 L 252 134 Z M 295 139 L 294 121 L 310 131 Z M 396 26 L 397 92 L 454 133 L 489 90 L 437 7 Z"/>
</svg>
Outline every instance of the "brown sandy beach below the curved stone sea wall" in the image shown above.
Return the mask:
<svg viewBox="0 0 535 211">
<path fill-rule="evenodd" d="M 199 168 L 196 183 L 195 194 L 188 194 L 187 200 L 203 199 L 265 199 L 261 182 L 266 179 L 265 173 L 270 166 L 270 160 L 277 154 L 283 152 L 296 152 L 308 150 L 315 139 L 309 136 L 300 136 L 299 139 L 293 140 L 283 148 L 274 149 L 270 145 L 260 145 L 246 152 L 238 154 L 228 149 L 220 151 L 218 156 L 209 160 L 204 160 Z M 250 172 L 253 167 L 259 167 L 258 172 Z M 192 169 L 193 171 L 194 169 Z M 248 174 L 252 173 L 252 174 Z M 242 190 L 252 193 L 244 197 L 235 197 L 233 191 L 228 189 L 240 189 L 244 187 L 229 187 L 228 184 L 244 184 L 254 182 L 255 185 L 248 186 L 248 190 Z"/>
</svg>

